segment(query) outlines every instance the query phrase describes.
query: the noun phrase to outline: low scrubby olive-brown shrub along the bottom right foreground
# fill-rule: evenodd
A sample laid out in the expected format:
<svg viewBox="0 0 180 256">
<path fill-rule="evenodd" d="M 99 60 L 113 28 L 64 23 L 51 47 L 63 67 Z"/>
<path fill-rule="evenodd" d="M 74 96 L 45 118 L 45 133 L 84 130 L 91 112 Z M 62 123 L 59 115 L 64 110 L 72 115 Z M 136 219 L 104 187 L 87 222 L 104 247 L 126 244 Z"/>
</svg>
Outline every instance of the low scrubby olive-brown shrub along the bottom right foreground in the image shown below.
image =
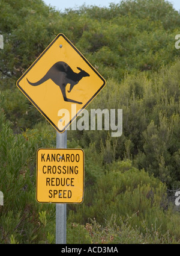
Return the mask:
<svg viewBox="0 0 180 256">
<path fill-rule="evenodd" d="M 119 221 L 118 221 L 119 222 Z M 169 231 L 165 234 L 151 225 L 151 228 L 145 228 L 145 234 L 140 233 L 138 228 L 133 228 L 128 223 L 124 223 L 121 219 L 119 225 L 116 223 L 116 216 L 112 215 L 110 220 L 104 220 L 100 225 L 95 219 L 89 219 L 85 228 L 92 237 L 92 243 L 100 244 L 171 244 L 178 243 L 175 236 L 172 236 Z"/>
</svg>

